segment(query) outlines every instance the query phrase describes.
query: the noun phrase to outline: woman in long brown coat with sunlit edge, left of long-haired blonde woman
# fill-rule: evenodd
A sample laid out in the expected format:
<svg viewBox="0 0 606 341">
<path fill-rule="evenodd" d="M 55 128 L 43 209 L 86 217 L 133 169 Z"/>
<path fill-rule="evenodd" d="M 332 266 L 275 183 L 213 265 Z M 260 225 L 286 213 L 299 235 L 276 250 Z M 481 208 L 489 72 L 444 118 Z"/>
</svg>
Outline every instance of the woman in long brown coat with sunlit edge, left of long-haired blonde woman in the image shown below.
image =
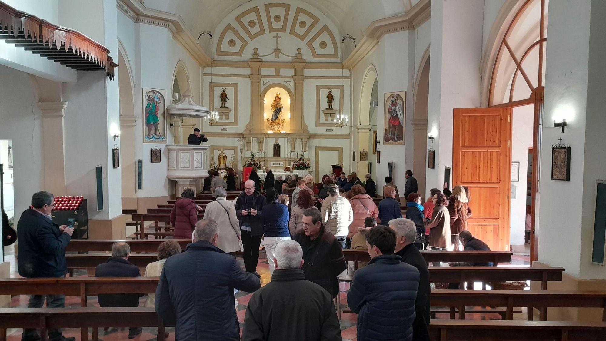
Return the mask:
<svg viewBox="0 0 606 341">
<path fill-rule="evenodd" d="M 452 246 L 450 238 L 450 214 L 448 214 L 447 197 L 442 193 L 433 195 L 433 208 L 431 220 L 427 223 L 429 229 L 429 243 L 431 250 L 447 250 Z"/>
</svg>

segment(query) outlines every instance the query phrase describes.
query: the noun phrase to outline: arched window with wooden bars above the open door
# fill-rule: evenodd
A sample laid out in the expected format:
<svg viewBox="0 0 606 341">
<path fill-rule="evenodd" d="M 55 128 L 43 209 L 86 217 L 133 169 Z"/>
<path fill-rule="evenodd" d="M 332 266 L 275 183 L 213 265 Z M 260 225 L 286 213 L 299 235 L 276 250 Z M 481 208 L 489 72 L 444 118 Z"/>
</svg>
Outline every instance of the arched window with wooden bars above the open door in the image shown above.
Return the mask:
<svg viewBox="0 0 606 341">
<path fill-rule="evenodd" d="M 548 0 L 526 0 L 509 22 L 492 70 L 488 106 L 530 104 L 544 87 L 547 5 Z"/>
</svg>

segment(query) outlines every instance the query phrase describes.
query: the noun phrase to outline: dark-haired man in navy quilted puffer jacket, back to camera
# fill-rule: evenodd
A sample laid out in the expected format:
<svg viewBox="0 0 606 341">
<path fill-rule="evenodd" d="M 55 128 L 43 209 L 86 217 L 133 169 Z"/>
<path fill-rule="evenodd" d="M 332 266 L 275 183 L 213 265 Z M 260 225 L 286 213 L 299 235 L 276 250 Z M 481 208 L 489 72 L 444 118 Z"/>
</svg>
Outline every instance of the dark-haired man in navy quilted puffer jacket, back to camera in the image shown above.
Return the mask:
<svg viewBox="0 0 606 341">
<path fill-rule="evenodd" d="M 358 313 L 358 341 L 410 341 L 419 270 L 393 254 L 396 233 L 390 228 L 371 228 L 366 243 L 371 260 L 356 271 L 347 293 Z"/>
</svg>

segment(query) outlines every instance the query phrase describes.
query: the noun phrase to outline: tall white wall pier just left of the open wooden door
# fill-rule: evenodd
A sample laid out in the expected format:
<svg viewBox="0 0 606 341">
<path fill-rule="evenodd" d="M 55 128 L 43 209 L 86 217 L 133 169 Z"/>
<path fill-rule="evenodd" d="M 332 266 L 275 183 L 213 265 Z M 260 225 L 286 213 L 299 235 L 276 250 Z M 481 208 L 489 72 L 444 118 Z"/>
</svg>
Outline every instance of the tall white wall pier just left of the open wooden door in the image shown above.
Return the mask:
<svg viewBox="0 0 606 341">
<path fill-rule="evenodd" d="M 481 99 L 483 0 L 431 3 L 431 68 L 427 131 L 435 136 L 436 168 L 425 188 L 441 188 L 452 167 L 453 109 L 478 107 Z"/>
</svg>

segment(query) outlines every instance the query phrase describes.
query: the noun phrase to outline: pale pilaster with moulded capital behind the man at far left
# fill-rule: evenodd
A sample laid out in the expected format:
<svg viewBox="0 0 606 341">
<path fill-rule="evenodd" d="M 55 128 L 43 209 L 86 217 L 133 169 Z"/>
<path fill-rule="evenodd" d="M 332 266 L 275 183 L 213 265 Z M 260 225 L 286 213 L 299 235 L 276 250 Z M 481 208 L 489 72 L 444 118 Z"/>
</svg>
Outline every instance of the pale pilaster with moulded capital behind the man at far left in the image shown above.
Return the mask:
<svg viewBox="0 0 606 341">
<path fill-rule="evenodd" d="M 65 108 L 67 102 L 38 102 L 42 111 L 44 187 L 56 196 L 65 195 Z"/>
</svg>

